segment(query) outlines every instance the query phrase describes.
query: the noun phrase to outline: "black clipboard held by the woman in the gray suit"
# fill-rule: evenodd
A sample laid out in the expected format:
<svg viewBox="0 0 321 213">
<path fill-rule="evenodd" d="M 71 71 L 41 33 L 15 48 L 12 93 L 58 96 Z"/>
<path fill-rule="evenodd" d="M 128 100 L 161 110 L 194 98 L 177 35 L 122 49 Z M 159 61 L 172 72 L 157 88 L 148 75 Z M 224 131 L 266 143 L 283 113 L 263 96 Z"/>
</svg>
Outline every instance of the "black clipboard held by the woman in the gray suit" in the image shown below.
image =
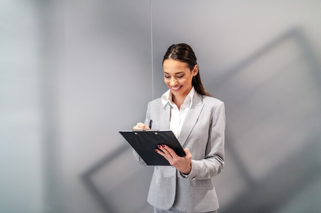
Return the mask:
<svg viewBox="0 0 321 213">
<path fill-rule="evenodd" d="M 147 165 L 170 165 L 165 157 L 155 152 L 157 145 L 165 144 L 175 153 L 184 157 L 186 154 L 171 130 L 133 130 L 119 131 L 130 146 L 138 153 Z"/>
</svg>

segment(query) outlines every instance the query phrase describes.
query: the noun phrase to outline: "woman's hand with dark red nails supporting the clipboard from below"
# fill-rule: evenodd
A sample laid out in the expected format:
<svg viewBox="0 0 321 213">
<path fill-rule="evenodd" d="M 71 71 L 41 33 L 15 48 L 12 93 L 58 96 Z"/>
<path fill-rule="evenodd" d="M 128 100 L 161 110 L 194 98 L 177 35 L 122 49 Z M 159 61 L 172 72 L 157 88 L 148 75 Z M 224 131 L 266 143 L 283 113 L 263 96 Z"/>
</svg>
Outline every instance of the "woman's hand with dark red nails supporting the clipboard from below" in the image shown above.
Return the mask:
<svg viewBox="0 0 321 213">
<path fill-rule="evenodd" d="M 175 167 L 177 170 L 179 170 L 180 172 L 182 172 L 185 175 L 188 175 L 191 170 L 192 170 L 192 154 L 190 153 L 190 151 L 188 149 L 184 149 L 185 151 L 185 156 L 184 157 L 179 157 L 175 151 L 166 146 L 166 145 L 158 145 L 158 148 L 162 151 L 159 151 L 157 149 L 155 149 L 155 151 L 164 156 L 168 162 Z"/>
</svg>

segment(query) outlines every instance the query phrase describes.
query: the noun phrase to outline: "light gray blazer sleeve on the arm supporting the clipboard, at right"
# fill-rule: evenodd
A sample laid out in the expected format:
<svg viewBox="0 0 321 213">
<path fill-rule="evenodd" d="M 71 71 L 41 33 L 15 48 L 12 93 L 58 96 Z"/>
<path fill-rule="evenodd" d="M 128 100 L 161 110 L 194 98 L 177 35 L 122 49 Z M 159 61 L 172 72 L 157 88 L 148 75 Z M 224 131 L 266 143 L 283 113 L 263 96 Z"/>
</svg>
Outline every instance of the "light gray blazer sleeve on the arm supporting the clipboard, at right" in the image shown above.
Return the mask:
<svg viewBox="0 0 321 213">
<path fill-rule="evenodd" d="M 225 124 L 225 107 L 224 103 L 220 102 L 211 119 L 205 159 L 192 160 L 191 172 L 188 175 L 179 172 L 180 176 L 188 180 L 202 180 L 210 179 L 222 172 L 224 167 Z"/>
</svg>

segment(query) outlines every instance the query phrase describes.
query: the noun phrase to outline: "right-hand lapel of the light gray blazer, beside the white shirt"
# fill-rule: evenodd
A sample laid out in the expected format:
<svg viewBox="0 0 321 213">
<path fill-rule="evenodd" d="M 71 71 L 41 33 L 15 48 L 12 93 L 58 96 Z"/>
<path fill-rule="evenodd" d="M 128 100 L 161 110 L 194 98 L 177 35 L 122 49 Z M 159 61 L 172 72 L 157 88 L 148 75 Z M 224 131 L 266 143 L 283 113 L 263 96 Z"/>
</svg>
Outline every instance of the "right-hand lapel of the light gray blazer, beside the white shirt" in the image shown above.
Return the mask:
<svg viewBox="0 0 321 213">
<path fill-rule="evenodd" d="M 182 130 L 180 131 L 178 138 L 179 144 L 182 145 L 183 148 L 188 136 L 190 135 L 198 120 L 200 112 L 202 112 L 203 106 L 204 103 L 202 103 L 202 97 L 200 96 L 200 94 L 195 92 L 192 106 L 187 112 Z"/>
</svg>

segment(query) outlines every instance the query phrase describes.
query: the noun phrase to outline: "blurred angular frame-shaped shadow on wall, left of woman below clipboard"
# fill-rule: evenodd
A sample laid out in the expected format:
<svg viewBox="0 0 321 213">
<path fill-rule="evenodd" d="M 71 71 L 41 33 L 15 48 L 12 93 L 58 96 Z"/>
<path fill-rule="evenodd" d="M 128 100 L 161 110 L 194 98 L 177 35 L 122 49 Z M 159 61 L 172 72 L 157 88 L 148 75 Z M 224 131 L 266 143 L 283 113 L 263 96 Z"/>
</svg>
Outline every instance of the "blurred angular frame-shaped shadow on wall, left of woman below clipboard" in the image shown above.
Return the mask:
<svg viewBox="0 0 321 213">
<path fill-rule="evenodd" d="M 134 161 L 132 148 L 124 140 L 122 147 L 89 168 L 81 178 L 106 212 L 147 213 L 152 209 L 144 189 L 148 189 L 152 169 Z"/>
</svg>

